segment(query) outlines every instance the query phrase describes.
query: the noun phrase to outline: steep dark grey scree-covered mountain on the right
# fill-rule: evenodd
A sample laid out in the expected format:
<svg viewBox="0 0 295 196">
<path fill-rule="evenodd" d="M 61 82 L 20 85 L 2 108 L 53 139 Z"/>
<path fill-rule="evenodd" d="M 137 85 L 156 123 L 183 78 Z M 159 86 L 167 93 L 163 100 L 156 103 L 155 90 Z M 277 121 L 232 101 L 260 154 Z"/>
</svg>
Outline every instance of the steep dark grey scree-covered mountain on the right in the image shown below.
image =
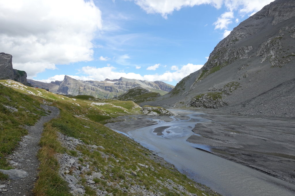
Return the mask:
<svg viewBox="0 0 295 196">
<path fill-rule="evenodd" d="M 276 0 L 235 27 L 199 71 L 142 104 L 295 117 L 294 64 L 295 1 Z"/>
</svg>

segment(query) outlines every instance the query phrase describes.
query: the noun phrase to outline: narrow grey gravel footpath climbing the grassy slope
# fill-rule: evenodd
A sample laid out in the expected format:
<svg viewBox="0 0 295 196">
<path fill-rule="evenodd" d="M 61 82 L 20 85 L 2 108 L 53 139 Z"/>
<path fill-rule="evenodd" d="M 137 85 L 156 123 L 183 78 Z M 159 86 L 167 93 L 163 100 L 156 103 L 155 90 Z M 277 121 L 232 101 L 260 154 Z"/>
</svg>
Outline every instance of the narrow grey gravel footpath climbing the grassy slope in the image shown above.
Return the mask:
<svg viewBox="0 0 295 196">
<path fill-rule="evenodd" d="M 27 172 L 27 177 L 0 182 L 0 195 L 22 195 L 29 196 L 37 178 L 39 160 L 37 151 L 40 149 L 39 141 L 43 131 L 43 124 L 59 115 L 59 109 L 53 106 L 42 105 L 45 110 L 50 110 L 50 115 L 42 116 L 34 126 L 28 126 L 28 135 L 24 136 L 19 147 L 9 156 L 10 163 L 19 171 Z"/>
</svg>

